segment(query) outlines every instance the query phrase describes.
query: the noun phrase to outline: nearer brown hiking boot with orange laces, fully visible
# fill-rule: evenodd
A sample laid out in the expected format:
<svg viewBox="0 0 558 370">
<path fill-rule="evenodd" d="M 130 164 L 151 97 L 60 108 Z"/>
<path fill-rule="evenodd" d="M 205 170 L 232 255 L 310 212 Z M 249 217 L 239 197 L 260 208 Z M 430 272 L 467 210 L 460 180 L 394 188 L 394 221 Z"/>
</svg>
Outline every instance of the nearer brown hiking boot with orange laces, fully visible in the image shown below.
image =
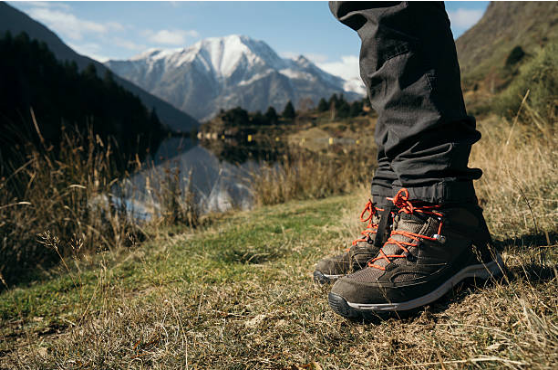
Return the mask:
<svg viewBox="0 0 558 370">
<path fill-rule="evenodd" d="M 488 279 L 503 272 L 488 248 L 490 234 L 480 207 L 441 207 L 408 199 L 401 189 L 393 230 L 366 268 L 339 279 L 329 294 L 333 311 L 348 318 L 406 311 L 442 297 L 465 278 Z"/>
</svg>

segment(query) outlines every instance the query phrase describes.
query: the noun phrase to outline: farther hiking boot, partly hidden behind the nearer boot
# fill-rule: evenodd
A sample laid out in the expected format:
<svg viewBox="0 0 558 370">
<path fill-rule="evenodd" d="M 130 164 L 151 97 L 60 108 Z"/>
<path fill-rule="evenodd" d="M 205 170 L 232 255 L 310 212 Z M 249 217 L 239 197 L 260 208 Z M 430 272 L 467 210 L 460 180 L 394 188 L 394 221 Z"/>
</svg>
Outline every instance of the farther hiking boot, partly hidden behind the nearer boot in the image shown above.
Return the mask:
<svg viewBox="0 0 558 370">
<path fill-rule="evenodd" d="M 366 229 L 361 232 L 362 237 L 354 240 L 344 253 L 320 260 L 316 264 L 314 280 L 320 284 L 331 283 L 362 269 L 376 257 L 389 235 L 385 230 L 391 226 L 391 209 L 376 208 L 369 200 L 360 214 L 360 221 L 368 222 Z"/>
</svg>

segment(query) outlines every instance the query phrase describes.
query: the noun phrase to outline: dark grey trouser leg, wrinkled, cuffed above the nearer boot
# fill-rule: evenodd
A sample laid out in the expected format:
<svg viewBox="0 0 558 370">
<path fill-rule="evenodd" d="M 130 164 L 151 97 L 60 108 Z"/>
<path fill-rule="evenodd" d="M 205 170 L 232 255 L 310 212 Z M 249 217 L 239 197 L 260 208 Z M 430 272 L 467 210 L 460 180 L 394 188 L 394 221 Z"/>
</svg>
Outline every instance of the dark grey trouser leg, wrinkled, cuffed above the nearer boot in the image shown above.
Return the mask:
<svg viewBox="0 0 558 370">
<path fill-rule="evenodd" d="M 411 198 L 476 202 L 467 166 L 480 139 L 467 116 L 455 44 L 441 2 L 330 2 L 339 21 L 362 40 L 360 73 L 378 112 L 376 143 L 385 154 L 372 181 L 383 194 L 390 178 Z"/>
</svg>

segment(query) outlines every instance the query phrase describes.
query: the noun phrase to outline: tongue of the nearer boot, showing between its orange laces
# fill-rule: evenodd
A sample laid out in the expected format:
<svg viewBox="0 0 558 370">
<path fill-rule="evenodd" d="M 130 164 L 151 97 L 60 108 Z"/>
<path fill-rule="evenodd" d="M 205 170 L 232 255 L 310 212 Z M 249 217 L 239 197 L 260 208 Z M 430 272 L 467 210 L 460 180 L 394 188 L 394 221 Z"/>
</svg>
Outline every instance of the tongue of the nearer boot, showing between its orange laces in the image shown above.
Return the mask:
<svg viewBox="0 0 558 370">
<path fill-rule="evenodd" d="M 425 219 L 421 219 L 418 216 L 412 214 L 406 214 L 406 213 L 400 213 L 398 217 L 399 220 L 396 222 L 396 228 L 395 228 L 396 231 L 406 231 L 406 232 L 411 232 L 420 235 L 427 235 L 427 236 L 430 236 L 436 232 L 435 225 L 432 225 L 433 223 L 428 222 L 428 218 L 425 220 Z M 399 234 L 391 235 L 390 239 L 397 240 L 400 242 L 413 243 L 413 244 L 417 243 L 416 240 Z M 406 245 L 405 247 L 412 252 L 413 247 L 406 246 Z M 403 254 L 403 252 L 405 252 L 400 246 L 392 242 L 384 244 L 382 251 L 388 256 L 401 255 Z M 397 263 L 398 260 L 399 258 L 395 258 L 393 259 L 393 262 Z M 388 261 L 382 258 L 378 261 L 375 261 L 374 264 L 377 266 L 385 267 L 388 264 Z"/>
</svg>

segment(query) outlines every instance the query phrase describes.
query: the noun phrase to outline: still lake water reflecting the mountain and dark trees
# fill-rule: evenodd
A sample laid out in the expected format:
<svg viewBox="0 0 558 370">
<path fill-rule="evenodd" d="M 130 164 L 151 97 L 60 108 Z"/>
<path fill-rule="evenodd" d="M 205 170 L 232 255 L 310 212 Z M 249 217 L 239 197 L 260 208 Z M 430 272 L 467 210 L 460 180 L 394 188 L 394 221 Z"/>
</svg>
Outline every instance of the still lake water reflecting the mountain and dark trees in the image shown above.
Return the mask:
<svg viewBox="0 0 558 370">
<path fill-rule="evenodd" d="M 359 141 L 315 138 L 312 142 L 315 150 L 332 154 L 343 154 L 351 146 L 358 147 Z M 157 153 L 144 161 L 143 170 L 120 188 L 119 198 L 125 199 L 134 217 L 149 219 L 162 213 L 162 193 L 175 180 L 172 186 L 178 187 L 182 194 L 193 193 L 201 213 L 250 209 L 254 204 L 252 174 L 262 163 L 280 163 L 287 150 L 288 143 L 275 136 L 260 137 L 258 141 L 251 135 L 201 141 L 167 138 Z"/>
</svg>

